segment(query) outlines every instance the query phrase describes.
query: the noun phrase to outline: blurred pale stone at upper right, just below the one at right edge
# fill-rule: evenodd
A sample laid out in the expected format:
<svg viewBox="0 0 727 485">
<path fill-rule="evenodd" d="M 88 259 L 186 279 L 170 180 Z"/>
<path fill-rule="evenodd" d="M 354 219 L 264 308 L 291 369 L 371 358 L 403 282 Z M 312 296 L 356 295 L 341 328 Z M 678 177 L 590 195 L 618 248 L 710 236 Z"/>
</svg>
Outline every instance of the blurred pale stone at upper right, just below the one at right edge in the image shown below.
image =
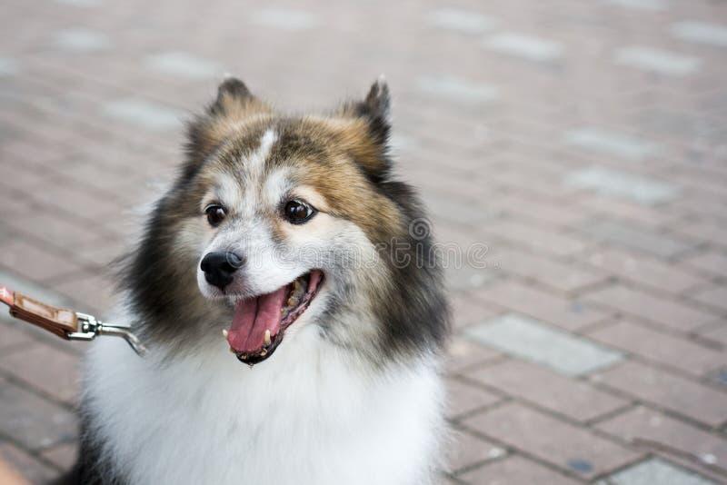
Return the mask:
<svg viewBox="0 0 727 485">
<path fill-rule="evenodd" d="M 702 61 L 691 55 L 676 54 L 662 49 L 632 45 L 619 49 L 614 54 L 616 64 L 629 65 L 658 74 L 683 76 L 694 74 Z"/>
</svg>

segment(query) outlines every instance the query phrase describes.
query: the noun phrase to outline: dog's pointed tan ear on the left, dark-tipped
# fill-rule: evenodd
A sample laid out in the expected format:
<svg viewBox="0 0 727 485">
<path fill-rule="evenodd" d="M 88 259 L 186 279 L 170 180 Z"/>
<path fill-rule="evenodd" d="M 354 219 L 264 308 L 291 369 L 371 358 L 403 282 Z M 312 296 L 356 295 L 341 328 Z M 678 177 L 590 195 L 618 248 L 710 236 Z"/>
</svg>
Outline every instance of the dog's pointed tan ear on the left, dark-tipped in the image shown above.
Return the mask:
<svg viewBox="0 0 727 485">
<path fill-rule="evenodd" d="M 214 103 L 188 125 L 187 151 L 192 160 L 199 162 L 212 153 L 245 118 L 272 112 L 272 108 L 250 93 L 242 81 L 225 76 L 217 88 Z"/>
</svg>

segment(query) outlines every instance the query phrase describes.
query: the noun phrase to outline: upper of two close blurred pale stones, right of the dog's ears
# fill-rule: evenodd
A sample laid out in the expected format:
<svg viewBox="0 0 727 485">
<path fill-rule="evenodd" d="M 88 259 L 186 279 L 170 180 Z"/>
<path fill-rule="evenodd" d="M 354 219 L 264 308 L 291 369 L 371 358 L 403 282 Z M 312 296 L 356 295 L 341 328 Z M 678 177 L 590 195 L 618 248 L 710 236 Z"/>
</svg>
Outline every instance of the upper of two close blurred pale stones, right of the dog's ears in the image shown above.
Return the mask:
<svg viewBox="0 0 727 485">
<path fill-rule="evenodd" d="M 633 161 L 641 161 L 659 153 L 659 147 L 632 135 L 586 126 L 563 135 L 565 144 L 591 152 L 605 153 Z"/>
</svg>

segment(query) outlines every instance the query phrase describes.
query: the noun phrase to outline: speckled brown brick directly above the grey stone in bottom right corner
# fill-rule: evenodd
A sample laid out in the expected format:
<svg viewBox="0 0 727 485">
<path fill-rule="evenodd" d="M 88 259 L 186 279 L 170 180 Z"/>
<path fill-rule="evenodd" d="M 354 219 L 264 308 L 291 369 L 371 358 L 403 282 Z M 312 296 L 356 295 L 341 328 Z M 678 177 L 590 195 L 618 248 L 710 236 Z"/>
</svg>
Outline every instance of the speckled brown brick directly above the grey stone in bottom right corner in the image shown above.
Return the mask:
<svg viewBox="0 0 727 485">
<path fill-rule="evenodd" d="M 655 441 L 722 468 L 727 463 L 727 441 L 719 434 L 641 406 L 603 421 L 597 428 L 628 442 Z"/>
</svg>

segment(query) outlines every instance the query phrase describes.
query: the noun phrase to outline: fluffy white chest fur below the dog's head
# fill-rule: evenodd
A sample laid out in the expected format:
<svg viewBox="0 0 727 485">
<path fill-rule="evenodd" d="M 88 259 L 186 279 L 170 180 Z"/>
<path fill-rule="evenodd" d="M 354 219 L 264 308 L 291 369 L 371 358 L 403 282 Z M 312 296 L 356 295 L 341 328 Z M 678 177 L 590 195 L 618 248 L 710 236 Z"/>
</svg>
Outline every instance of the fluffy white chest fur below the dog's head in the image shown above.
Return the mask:
<svg viewBox="0 0 727 485">
<path fill-rule="evenodd" d="M 433 366 L 372 380 L 313 332 L 290 343 L 248 369 L 222 339 L 219 351 L 164 365 L 97 341 L 90 431 L 133 483 L 433 483 L 443 427 Z"/>
</svg>

